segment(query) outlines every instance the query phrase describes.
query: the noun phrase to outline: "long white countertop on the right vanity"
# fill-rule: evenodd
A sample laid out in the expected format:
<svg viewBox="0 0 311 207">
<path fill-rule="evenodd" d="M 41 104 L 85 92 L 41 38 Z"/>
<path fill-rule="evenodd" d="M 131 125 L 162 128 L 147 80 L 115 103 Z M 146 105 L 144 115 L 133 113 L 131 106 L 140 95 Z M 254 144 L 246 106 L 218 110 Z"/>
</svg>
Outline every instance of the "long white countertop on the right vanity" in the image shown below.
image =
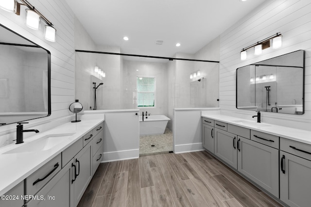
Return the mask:
<svg viewBox="0 0 311 207">
<path fill-rule="evenodd" d="M 302 130 L 302 129 L 296 129 L 296 128 L 291 128 L 291 127 L 283 127 L 283 126 L 278 126 L 278 125 L 273 125 L 270 123 L 262 123 L 262 125 L 268 125 L 268 126 L 256 126 L 257 122 L 256 121 L 250 121 L 247 119 L 242 119 L 242 118 L 237 118 L 233 116 L 227 116 L 224 114 L 217 114 L 217 113 L 209 113 L 208 111 L 202 111 L 202 117 L 214 119 L 217 121 L 221 122 L 226 122 L 228 124 L 240 126 L 240 127 L 246 127 L 250 129 L 254 129 L 256 131 L 261 131 L 264 133 L 276 135 L 279 137 L 287 138 L 290 140 L 302 142 L 302 143 L 307 143 L 311 144 L 311 131 L 307 130 Z M 240 122 L 235 122 L 237 120 L 249 122 L 252 124 L 242 124 Z"/>
</svg>

